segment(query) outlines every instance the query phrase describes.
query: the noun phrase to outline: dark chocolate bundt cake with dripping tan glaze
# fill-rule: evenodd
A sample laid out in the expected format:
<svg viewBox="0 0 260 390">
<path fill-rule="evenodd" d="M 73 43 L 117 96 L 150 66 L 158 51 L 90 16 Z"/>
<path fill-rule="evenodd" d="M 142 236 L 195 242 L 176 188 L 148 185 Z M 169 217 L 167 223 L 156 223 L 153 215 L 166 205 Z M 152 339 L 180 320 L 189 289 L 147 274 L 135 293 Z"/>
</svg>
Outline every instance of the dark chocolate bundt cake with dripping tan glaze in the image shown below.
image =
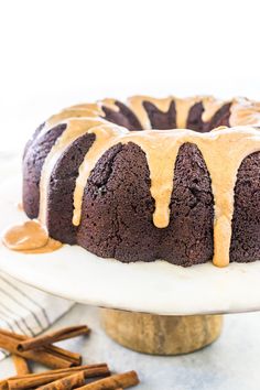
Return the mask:
<svg viewBox="0 0 260 390">
<path fill-rule="evenodd" d="M 260 259 L 260 105 L 213 97 L 74 106 L 23 156 L 23 207 L 63 243 L 122 262 Z"/>
</svg>

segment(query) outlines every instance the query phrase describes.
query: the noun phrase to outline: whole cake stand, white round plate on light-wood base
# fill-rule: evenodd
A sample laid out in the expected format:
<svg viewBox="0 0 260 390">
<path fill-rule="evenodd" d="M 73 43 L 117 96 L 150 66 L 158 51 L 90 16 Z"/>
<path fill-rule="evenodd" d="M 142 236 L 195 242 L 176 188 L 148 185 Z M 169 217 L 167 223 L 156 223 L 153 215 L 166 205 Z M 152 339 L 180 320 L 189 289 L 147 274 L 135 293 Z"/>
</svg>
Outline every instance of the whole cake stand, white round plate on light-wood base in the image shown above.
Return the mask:
<svg viewBox="0 0 260 390">
<path fill-rule="evenodd" d="M 0 186 L 0 230 L 25 219 L 19 210 L 21 180 Z M 224 313 L 260 308 L 260 261 L 191 268 L 159 260 L 123 264 L 65 245 L 44 254 L 23 254 L 0 243 L 0 270 L 34 288 L 100 306 L 107 334 L 149 354 L 176 355 L 213 343 Z"/>
</svg>

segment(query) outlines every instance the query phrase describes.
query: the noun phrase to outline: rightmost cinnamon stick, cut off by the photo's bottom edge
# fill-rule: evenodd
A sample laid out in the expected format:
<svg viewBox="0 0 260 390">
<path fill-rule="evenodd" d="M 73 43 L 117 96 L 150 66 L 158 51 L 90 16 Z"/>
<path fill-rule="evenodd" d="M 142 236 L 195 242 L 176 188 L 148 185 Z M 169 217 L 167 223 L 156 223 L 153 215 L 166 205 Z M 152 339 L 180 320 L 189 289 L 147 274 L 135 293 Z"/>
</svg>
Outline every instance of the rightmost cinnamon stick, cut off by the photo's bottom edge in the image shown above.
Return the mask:
<svg viewBox="0 0 260 390">
<path fill-rule="evenodd" d="M 136 371 L 113 375 L 108 378 L 97 380 L 79 388 L 80 390 L 116 390 L 118 388 L 127 389 L 139 383 L 139 378 Z M 78 389 L 78 390 L 79 390 Z"/>
</svg>

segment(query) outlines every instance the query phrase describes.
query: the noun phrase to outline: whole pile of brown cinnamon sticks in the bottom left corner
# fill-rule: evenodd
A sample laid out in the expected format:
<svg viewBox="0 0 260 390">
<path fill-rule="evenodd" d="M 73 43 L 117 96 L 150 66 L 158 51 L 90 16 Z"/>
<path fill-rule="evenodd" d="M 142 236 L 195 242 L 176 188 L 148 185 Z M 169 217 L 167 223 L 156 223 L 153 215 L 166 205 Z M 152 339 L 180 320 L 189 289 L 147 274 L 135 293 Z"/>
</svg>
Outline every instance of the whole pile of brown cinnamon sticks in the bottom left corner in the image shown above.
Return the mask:
<svg viewBox="0 0 260 390">
<path fill-rule="evenodd" d="M 88 326 L 79 325 L 29 338 L 0 329 L 0 348 L 12 354 L 17 369 L 15 377 L 0 381 L 0 390 L 121 390 L 138 384 L 139 379 L 134 371 L 110 376 L 106 364 L 80 366 L 79 354 L 53 345 L 89 333 Z M 29 360 L 55 369 L 30 373 Z"/>
</svg>

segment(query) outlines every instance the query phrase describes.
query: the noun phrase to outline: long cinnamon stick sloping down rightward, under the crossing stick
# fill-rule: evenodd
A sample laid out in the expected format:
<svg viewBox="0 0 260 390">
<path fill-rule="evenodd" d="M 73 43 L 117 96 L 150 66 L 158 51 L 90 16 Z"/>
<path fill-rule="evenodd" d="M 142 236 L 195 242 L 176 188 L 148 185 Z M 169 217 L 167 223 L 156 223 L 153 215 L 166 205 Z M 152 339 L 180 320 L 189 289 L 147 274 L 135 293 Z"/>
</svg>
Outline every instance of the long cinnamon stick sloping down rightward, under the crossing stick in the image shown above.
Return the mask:
<svg viewBox="0 0 260 390">
<path fill-rule="evenodd" d="M 82 356 L 79 354 L 74 354 L 54 346 L 20 353 L 17 347 L 19 342 L 24 339 L 26 339 L 26 336 L 0 329 L 0 347 L 11 354 L 17 354 L 25 359 L 41 362 L 51 368 L 68 368 L 78 366 L 82 362 Z"/>
</svg>

